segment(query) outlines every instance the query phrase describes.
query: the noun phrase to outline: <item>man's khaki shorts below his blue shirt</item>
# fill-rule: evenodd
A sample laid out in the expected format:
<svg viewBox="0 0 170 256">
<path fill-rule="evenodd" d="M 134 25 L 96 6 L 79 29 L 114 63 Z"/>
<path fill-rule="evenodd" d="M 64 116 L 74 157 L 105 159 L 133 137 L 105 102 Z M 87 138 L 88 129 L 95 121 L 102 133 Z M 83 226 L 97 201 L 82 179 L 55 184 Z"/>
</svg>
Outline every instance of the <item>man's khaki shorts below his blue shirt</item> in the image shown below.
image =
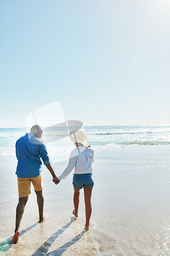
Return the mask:
<svg viewBox="0 0 170 256">
<path fill-rule="evenodd" d="M 18 195 L 19 197 L 27 197 L 31 194 L 31 182 L 33 183 L 34 189 L 36 191 L 42 190 L 42 172 L 39 176 L 35 178 L 19 178 L 18 180 Z"/>
</svg>

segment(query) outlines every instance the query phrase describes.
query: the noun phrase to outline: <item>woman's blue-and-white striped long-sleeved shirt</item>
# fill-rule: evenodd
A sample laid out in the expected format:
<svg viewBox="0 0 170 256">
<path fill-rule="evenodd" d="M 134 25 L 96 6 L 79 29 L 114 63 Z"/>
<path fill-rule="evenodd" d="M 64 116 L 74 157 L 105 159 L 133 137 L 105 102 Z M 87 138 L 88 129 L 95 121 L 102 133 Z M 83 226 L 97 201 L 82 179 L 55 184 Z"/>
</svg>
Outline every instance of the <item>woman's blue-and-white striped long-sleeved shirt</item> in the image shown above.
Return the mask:
<svg viewBox="0 0 170 256">
<path fill-rule="evenodd" d="M 75 174 L 92 174 L 91 164 L 94 162 L 94 151 L 86 146 L 76 147 L 69 156 L 68 165 L 64 172 L 58 177 L 65 179 L 75 167 Z"/>
</svg>

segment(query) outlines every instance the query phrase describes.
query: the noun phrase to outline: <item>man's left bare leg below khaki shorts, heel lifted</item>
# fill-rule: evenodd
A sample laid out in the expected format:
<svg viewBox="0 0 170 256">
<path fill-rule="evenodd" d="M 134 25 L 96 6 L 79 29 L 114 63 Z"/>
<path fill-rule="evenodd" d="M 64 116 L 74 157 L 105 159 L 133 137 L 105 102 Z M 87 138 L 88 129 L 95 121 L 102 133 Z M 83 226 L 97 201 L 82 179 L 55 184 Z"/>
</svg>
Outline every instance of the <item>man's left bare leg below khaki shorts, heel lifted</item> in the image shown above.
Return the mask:
<svg viewBox="0 0 170 256">
<path fill-rule="evenodd" d="M 20 223 L 21 223 L 21 220 L 22 220 L 23 211 L 24 211 L 25 206 L 26 206 L 27 201 L 28 201 L 28 197 L 29 196 L 27 196 L 27 197 L 20 197 L 18 205 L 16 207 L 15 234 L 14 234 L 13 239 L 12 239 L 12 243 L 13 244 L 16 244 L 18 242 L 18 239 L 19 239 Z"/>
</svg>

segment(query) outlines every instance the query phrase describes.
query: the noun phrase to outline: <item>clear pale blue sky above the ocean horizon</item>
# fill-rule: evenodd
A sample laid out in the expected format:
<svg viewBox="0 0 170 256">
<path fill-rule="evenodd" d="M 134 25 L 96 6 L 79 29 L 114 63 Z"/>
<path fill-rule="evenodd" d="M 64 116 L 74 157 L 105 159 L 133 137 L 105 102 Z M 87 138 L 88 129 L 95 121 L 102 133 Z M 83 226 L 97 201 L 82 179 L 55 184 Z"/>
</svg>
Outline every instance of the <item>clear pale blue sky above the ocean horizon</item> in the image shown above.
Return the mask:
<svg viewBox="0 0 170 256">
<path fill-rule="evenodd" d="M 84 125 L 170 123 L 168 0 L 1 0 L 0 12 L 0 127 L 55 101 Z"/>
</svg>

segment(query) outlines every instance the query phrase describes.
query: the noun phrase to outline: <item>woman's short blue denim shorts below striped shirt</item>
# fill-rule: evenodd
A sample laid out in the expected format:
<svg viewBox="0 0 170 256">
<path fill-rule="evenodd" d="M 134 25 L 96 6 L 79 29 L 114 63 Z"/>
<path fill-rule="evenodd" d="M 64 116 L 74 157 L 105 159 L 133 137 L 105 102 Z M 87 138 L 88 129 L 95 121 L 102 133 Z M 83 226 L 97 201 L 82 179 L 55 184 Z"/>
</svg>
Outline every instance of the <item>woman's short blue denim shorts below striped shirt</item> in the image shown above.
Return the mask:
<svg viewBox="0 0 170 256">
<path fill-rule="evenodd" d="M 94 182 L 92 180 L 92 174 L 74 174 L 72 184 L 77 188 L 93 187 Z"/>
</svg>

